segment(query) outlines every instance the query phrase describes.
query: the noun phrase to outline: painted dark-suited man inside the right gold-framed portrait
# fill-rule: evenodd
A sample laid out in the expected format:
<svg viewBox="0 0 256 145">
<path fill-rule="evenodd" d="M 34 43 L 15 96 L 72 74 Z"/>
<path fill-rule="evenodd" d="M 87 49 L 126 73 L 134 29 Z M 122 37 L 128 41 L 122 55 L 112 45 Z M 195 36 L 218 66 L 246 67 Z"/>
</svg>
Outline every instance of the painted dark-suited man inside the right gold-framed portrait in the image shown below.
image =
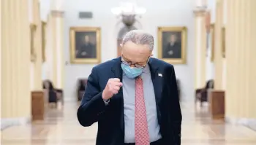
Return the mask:
<svg viewBox="0 0 256 145">
<path fill-rule="evenodd" d="M 165 45 L 163 58 L 181 58 L 181 44 L 177 42 L 175 34 L 170 35 L 170 41 Z"/>
</svg>

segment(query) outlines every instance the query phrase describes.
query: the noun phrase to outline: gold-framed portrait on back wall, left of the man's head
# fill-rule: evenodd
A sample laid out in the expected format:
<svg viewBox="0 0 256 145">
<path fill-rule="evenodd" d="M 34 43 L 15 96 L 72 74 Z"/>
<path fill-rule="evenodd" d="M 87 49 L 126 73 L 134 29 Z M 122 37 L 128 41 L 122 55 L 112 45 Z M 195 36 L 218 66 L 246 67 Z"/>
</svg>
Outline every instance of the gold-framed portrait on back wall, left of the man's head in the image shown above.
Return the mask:
<svg viewBox="0 0 256 145">
<path fill-rule="evenodd" d="M 70 63 L 100 63 L 101 29 L 99 27 L 71 27 L 69 44 Z"/>
</svg>

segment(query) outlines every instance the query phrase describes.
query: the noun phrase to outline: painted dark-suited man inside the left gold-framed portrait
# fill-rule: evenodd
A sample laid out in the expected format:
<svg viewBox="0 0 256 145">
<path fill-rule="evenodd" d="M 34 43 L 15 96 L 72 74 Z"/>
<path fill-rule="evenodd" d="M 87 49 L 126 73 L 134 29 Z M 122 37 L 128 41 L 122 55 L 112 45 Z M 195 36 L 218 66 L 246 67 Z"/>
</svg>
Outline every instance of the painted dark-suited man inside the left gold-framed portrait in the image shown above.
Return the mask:
<svg viewBox="0 0 256 145">
<path fill-rule="evenodd" d="M 76 58 L 96 58 L 96 47 L 88 35 L 84 36 L 84 44 L 76 51 Z"/>
</svg>

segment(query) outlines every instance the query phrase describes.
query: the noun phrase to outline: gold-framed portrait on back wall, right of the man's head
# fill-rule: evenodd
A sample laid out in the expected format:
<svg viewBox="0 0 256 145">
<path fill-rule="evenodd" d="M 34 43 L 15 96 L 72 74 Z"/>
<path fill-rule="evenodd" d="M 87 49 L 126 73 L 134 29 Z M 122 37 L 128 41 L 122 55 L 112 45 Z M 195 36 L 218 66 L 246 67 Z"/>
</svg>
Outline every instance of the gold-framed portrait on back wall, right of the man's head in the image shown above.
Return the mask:
<svg viewBox="0 0 256 145">
<path fill-rule="evenodd" d="M 159 27 L 158 28 L 158 58 L 167 63 L 186 63 L 187 28 L 186 27 Z M 170 44 L 171 39 L 176 39 Z"/>
</svg>

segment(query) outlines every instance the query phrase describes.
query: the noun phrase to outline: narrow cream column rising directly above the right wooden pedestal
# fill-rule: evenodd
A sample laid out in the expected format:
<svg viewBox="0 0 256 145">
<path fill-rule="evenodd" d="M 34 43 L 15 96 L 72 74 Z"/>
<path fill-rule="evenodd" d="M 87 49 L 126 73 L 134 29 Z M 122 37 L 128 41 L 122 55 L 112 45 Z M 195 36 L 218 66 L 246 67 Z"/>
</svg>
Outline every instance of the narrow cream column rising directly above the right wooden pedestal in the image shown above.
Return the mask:
<svg viewBox="0 0 256 145">
<path fill-rule="evenodd" d="M 223 0 L 216 4 L 216 19 L 214 26 L 214 89 L 222 90 L 223 57 L 222 57 L 222 27 L 223 27 Z"/>
</svg>

